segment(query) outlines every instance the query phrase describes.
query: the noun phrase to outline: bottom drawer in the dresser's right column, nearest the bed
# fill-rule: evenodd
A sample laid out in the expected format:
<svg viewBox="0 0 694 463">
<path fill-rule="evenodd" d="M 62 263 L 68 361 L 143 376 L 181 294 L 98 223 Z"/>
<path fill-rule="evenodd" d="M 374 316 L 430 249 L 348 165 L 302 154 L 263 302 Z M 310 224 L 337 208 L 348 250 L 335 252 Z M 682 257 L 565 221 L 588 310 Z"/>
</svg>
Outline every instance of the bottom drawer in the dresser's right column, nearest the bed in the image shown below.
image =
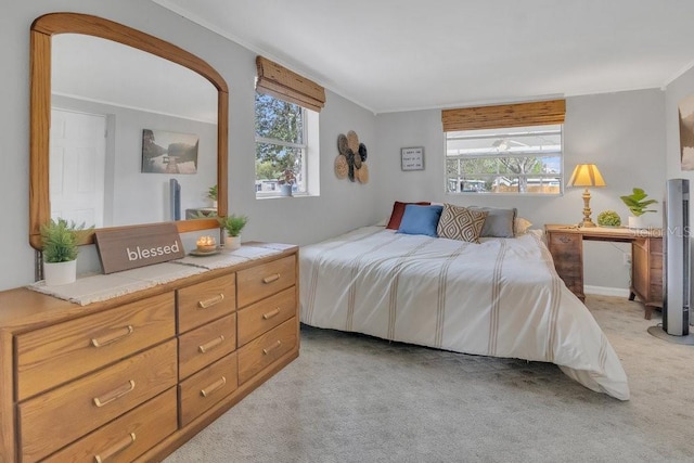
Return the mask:
<svg viewBox="0 0 694 463">
<path fill-rule="evenodd" d="M 297 343 L 297 331 L 296 318 L 292 318 L 239 349 L 239 384 L 291 351 Z"/>
</svg>

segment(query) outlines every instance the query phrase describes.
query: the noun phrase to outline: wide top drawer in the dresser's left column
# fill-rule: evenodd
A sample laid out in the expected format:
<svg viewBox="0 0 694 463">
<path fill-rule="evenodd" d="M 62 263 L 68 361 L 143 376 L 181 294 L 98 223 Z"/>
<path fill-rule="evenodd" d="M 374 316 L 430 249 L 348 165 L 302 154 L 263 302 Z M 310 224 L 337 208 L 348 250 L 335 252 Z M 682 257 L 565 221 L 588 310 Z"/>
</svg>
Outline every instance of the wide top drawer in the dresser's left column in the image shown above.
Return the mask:
<svg viewBox="0 0 694 463">
<path fill-rule="evenodd" d="M 15 337 L 17 400 L 176 335 L 174 293 Z"/>
</svg>

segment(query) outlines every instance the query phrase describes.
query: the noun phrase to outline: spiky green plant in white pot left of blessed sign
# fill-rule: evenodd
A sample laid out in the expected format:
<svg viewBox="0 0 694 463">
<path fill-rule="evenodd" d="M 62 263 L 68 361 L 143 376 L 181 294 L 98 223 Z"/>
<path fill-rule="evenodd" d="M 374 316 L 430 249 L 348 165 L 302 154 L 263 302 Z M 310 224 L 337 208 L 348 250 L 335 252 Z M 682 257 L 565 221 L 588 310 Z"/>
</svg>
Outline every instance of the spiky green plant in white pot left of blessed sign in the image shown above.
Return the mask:
<svg viewBox="0 0 694 463">
<path fill-rule="evenodd" d="M 43 242 L 43 279 L 48 286 L 74 283 L 77 279 L 77 254 L 81 234 L 92 230 L 65 219 L 51 219 L 41 226 Z"/>
</svg>

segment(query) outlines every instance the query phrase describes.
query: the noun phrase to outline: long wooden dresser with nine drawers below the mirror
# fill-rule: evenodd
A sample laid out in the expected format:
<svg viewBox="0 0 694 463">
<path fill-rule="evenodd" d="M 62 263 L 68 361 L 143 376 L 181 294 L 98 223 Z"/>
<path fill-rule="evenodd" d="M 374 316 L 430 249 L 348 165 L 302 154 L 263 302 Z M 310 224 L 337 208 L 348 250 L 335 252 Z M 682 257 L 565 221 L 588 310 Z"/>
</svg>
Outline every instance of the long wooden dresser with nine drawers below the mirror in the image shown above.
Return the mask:
<svg viewBox="0 0 694 463">
<path fill-rule="evenodd" d="M 298 357 L 297 278 L 287 246 L 83 307 L 0 292 L 0 462 L 162 460 Z"/>
</svg>

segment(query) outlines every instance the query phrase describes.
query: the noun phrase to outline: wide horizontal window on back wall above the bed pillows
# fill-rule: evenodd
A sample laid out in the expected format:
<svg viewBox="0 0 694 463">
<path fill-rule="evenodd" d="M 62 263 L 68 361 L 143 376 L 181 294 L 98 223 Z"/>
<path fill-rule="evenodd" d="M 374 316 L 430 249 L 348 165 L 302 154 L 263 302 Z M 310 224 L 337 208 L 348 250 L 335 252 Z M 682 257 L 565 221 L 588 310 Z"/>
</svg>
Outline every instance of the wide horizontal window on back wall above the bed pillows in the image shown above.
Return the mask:
<svg viewBox="0 0 694 463">
<path fill-rule="evenodd" d="M 562 125 L 446 132 L 447 193 L 563 192 Z"/>
</svg>

